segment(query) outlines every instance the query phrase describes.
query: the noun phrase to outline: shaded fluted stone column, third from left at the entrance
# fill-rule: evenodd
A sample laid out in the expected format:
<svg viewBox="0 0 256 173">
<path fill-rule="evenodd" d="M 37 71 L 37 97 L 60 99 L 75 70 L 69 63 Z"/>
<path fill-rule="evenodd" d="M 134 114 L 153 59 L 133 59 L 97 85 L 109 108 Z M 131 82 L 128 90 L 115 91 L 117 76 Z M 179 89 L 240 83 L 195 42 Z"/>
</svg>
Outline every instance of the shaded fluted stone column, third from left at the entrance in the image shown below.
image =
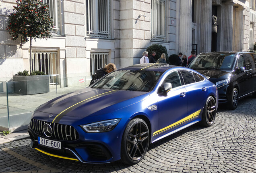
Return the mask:
<svg viewBox="0 0 256 173">
<path fill-rule="evenodd" d="M 223 51 L 232 51 L 233 41 L 233 2 L 224 4 L 223 21 Z M 241 24 L 242 25 L 242 24 Z"/>
</svg>

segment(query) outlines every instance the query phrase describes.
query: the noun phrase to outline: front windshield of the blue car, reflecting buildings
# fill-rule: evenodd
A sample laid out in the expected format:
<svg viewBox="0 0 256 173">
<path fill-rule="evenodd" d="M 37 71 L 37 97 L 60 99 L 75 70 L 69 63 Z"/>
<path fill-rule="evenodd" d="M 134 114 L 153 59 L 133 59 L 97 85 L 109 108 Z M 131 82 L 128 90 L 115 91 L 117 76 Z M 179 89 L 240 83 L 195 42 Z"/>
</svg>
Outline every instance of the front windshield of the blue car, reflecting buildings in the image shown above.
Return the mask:
<svg viewBox="0 0 256 173">
<path fill-rule="evenodd" d="M 128 91 L 151 91 L 162 72 L 145 70 L 118 70 L 111 72 L 92 88 Z"/>
</svg>

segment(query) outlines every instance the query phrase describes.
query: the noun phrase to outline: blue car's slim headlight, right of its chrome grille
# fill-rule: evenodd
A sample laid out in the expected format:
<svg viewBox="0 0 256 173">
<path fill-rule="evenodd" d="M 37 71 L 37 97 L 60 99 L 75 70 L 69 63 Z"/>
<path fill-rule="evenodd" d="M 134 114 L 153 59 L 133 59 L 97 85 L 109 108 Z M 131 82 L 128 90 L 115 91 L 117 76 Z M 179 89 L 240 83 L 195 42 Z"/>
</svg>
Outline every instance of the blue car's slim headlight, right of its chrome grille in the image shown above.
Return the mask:
<svg viewBox="0 0 256 173">
<path fill-rule="evenodd" d="M 105 121 L 99 121 L 96 123 L 91 123 L 87 125 L 81 125 L 87 133 L 100 133 L 113 130 L 119 123 L 121 119 L 111 119 Z"/>
</svg>

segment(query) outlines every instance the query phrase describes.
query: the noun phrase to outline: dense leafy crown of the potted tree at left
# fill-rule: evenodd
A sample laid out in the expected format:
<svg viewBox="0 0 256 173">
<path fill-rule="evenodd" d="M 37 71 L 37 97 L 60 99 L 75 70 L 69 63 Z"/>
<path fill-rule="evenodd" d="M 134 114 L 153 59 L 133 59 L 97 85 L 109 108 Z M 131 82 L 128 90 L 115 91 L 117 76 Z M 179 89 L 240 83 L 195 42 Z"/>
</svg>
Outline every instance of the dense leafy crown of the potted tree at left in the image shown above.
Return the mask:
<svg viewBox="0 0 256 173">
<path fill-rule="evenodd" d="M 51 38 L 54 27 L 50 18 L 49 5 L 41 0 L 17 0 L 13 6 L 14 12 L 8 17 L 8 26 L 12 40 L 21 36 L 21 44 L 28 42 L 29 38 Z"/>
</svg>

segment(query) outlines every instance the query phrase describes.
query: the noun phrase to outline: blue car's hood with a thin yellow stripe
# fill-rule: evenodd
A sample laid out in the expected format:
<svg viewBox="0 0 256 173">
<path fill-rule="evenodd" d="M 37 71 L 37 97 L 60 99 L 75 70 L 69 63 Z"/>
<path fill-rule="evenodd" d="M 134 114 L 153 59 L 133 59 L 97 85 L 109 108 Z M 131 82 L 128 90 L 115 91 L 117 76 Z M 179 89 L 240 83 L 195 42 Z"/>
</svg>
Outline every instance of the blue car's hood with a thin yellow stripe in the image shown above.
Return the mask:
<svg viewBox="0 0 256 173">
<path fill-rule="evenodd" d="M 48 101 L 38 107 L 37 111 L 70 117 L 87 117 L 132 105 L 136 102 L 130 99 L 135 97 L 136 102 L 141 101 L 147 97 L 147 92 L 86 88 Z"/>
</svg>

